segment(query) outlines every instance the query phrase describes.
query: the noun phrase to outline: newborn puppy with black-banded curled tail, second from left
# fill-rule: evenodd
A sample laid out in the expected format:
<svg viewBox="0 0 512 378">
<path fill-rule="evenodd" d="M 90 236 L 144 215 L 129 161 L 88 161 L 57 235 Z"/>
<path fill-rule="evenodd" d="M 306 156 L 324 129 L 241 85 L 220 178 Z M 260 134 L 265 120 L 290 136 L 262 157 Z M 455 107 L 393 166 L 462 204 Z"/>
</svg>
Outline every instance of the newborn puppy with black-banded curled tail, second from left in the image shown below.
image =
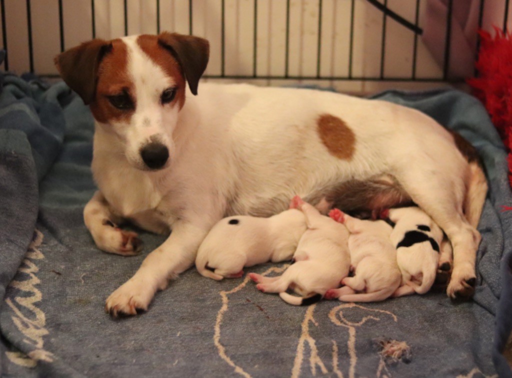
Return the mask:
<svg viewBox="0 0 512 378">
<path fill-rule="evenodd" d="M 298 196 L 291 206 L 304 213 L 308 227 L 293 255 L 294 264 L 279 277 L 255 273 L 249 277 L 263 292 L 279 292 L 289 304 L 308 305 L 321 300 L 328 289 L 338 287 L 339 281 L 349 274 L 349 233 L 343 224 L 321 215 Z M 287 293 L 288 289 L 301 297 Z"/>
</svg>

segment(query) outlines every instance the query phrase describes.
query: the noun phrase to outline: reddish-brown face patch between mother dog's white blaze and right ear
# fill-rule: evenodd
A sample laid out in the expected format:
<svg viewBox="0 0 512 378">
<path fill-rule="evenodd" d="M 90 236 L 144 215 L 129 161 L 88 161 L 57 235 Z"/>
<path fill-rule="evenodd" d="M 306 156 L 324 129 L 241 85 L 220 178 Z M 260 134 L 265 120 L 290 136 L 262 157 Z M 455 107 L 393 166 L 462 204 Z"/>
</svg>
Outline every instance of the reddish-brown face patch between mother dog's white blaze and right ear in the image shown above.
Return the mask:
<svg viewBox="0 0 512 378">
<path fill-rule="evenodd" d="M 186 84 L 179 62 L 160 46 L 158 37 L 155 35 L 139 35 L 137 37 L 137 44 L 151 60 L 161 67 L 169 77 L 174 79 L 177 92 L 173 102 L 179 104 L 181 109 L 185 103 Z"/>
</svg>

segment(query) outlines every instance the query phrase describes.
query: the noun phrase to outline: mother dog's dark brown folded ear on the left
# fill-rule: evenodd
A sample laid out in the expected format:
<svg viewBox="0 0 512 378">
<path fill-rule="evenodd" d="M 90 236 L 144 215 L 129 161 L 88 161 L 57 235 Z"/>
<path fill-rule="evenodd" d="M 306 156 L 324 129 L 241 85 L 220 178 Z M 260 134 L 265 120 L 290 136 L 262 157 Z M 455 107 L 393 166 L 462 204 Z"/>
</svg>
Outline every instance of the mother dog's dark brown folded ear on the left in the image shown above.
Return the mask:
<svg viewBox="0 0 512 378">
<path fill-rule="evenodd" d="M 94 100 L 98 66 L 101 58 L 110 50 L 111 43 L 93 39 L 60 53 L 54 59 L 62 79 L 86 105 Z"/>
</svg>

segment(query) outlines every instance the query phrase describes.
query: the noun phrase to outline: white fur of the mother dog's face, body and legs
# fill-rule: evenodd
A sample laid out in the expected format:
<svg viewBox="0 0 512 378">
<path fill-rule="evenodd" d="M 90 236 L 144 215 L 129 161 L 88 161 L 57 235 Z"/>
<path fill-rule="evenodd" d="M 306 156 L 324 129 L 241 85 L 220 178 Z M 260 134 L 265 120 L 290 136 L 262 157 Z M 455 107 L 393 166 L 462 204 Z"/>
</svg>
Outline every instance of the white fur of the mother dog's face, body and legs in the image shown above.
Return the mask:
<svg viewBox="0 0 512 378">
<path fill-rule="evenodd" d="M 470 165 L 432 118 L 386 101 L 245 84 L 202 83 L 198 96 L 187 89 L 181 109 L 162 105 L 160 94 L 176 78 L 142 51 L 136 37 L 121 41 L 137 106 L 127 120 L 96 121 L 92 170 L 99 191 L 84 209 L 84 220 L 100 249 L 119 254 L 133 253 L 126 242 L 132 239 L 109 222 L 130 220 L 152 232 L 173 232 L 106 300 L 113 316 L 147 309 L 169 279 L 194 264 L 199 245 L 224 216 L 277 214 L 296 193 L 322 196 L 349 180 L 390 176 L 453 244 L 449 296 L 467 290 L 480 234 L 464 212 L 478 213 L 483 198 L 463 208 Z M 69 60 L 65 54 L 61 67 Z M 183 67 L 193 64 L 186 59 Z M 79 89 L 71 81 L 70 86 Z M 342 119 L 353 131 L 350 158 L 335 157 L 322 143 L 322 114 Z M 170 154 L 158 171 L 147 170 L 139 153 L 154 136 Z"/>
</svg>

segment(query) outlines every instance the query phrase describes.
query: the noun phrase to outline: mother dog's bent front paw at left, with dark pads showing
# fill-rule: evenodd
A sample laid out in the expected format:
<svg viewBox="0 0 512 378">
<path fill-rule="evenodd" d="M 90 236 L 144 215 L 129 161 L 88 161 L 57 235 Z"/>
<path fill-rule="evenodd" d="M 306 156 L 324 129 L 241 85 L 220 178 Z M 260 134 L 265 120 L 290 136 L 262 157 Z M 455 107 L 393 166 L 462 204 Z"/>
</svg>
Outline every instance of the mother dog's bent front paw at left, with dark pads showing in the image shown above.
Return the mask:
<svg viewBox="0 0 512 378">
<path fill-rule="evenodd" d="M 132 231 L 105 224 L 95 236 L 99 249 L 121 256 L 135 256 L 142 249 L 142 241 Z"/>
</svg>

